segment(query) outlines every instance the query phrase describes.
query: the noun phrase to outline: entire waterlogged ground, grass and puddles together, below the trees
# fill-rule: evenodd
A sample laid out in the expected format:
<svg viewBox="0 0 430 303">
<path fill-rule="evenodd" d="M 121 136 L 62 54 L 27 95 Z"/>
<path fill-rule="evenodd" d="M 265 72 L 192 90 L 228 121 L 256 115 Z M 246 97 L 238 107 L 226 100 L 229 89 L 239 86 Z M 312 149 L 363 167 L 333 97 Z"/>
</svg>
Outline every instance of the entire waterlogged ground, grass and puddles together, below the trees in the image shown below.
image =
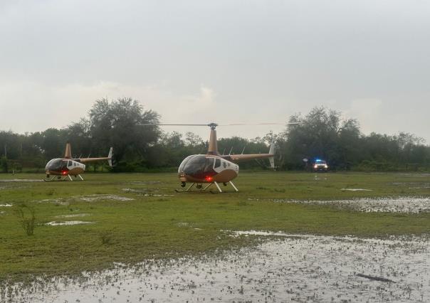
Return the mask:
<svg viewBox="0 0 430 303">
<path fill-rule="evenodd" d="M 85 176 L 0 175 L 0 302 L 430 302 L 429 174 Z"/>
</svg>

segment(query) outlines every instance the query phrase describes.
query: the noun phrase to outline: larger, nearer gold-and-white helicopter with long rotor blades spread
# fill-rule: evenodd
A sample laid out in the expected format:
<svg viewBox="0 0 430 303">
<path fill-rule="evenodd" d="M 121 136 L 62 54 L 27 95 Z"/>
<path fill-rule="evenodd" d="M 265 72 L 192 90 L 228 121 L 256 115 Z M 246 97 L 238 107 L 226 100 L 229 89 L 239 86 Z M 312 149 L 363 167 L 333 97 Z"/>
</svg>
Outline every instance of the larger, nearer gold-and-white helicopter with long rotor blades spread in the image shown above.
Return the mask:
<svg viewBox="0 0 430 303">
<path fill-rule="evenodd" d="M 268 123 L 261 123 L 268 124 Z M 274 123 L 270 123 L 274 124 Z M 239 166 L 236 162 L 252 159 L 269 159 L 271 169 L 275 169 L 274 159 L 275 144 L 271 144 L 268 154 L 219 154 L 216 142 L 216 127 L 219 124 L 143 124 L 143 125 L 169 125 L 169 126 L 208 126 L 211 129 L 209 136 L 209 148 L 206 154 L 193 154 L 187 156 L 179 165 L 178 177 L 181 187 L 184 189 L 176 190 L 177 192 L 206 191 L 214 185 L 219 193 L 222 193 L 219 184 L 227 186 L 230 184 L 234 191 L 238 188 L 232 182 L 238 176 Z M 228 124 L 243 125 L 243 124 Z M 187 183 L 191 184 L 187 188 Z M 192 189 L 196 186 L 196 189 Z"/>
</svg>

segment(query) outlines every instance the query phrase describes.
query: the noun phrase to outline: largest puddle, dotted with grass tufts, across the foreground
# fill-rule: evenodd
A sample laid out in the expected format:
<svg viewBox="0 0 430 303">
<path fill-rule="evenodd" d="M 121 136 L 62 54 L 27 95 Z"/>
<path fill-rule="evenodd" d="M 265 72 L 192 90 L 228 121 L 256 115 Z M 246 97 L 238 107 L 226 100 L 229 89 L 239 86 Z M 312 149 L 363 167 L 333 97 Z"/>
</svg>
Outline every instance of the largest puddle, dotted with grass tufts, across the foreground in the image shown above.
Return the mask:
<svg viewBox="0 0 430 303">
<path fill-rule="evenodd" d="M 231 232 L 261 235 L 264 232 Z M 263 234 L 261 234 L 263 233 Z M 276 234 L 276 233 L 274 233 Z M 1 295 L 24 302 L 429 302 L 426 238 L 288 235 L 224 255 L 147 260 Z M 1 297 L 0 297 L 1 299 Z"/>
</svg>

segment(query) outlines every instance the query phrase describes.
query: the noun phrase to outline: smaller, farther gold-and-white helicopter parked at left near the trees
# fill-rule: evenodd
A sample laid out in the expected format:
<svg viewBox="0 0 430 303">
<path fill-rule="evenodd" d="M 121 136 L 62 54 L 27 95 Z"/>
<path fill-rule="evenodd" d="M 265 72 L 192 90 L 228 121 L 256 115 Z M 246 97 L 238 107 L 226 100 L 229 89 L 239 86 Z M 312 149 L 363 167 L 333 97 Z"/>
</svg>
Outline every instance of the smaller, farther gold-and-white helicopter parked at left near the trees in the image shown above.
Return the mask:
<svg viewBox="0 0 430 303">
<path fill-rule="evenodd" d="M 85 164 L 87 162 L 108 160 L 109 166 L 112 167 L 112 147 L 110 147 L 109 154 L 102 158 L 73 158 L 72 149 L 70 143 L 65 144 L 65 153 L 63 158 L 51 159 L 45 166 L 46 178 L 43 181 L 54 181 L 55 179 L 59 181 L 66 181 L 69 179 L 73 181 L 71 176 L 75 178 L 79 177 L 83 181 L 83 174 L 85 171 Z M 53 175 L 51 179 L 49 177 Z"/>
</svg>

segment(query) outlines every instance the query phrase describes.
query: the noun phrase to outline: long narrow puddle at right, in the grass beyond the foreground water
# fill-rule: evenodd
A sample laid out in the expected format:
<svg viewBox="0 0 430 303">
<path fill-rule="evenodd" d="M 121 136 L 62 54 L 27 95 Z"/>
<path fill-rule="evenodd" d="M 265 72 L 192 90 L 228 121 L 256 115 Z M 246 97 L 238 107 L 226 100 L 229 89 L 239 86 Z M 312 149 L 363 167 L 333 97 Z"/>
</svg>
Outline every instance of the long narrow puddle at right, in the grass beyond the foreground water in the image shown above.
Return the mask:
<svg viewBox="0 0 430 303">
<path fill-rule="evenodd" d="M 258 199 L 248 198 L 248 201 L 271 201 L 275 203 L 299 203 L 313 205 L 335 206 L 340 209 L 351 209 L 365 213 L 421 213 L 430 211 L 430 198 L 398 197 L 398 198 L 356 198 L 352 200 L 310 200 L 298 201 L 290 199 Z"/>
</svg>

